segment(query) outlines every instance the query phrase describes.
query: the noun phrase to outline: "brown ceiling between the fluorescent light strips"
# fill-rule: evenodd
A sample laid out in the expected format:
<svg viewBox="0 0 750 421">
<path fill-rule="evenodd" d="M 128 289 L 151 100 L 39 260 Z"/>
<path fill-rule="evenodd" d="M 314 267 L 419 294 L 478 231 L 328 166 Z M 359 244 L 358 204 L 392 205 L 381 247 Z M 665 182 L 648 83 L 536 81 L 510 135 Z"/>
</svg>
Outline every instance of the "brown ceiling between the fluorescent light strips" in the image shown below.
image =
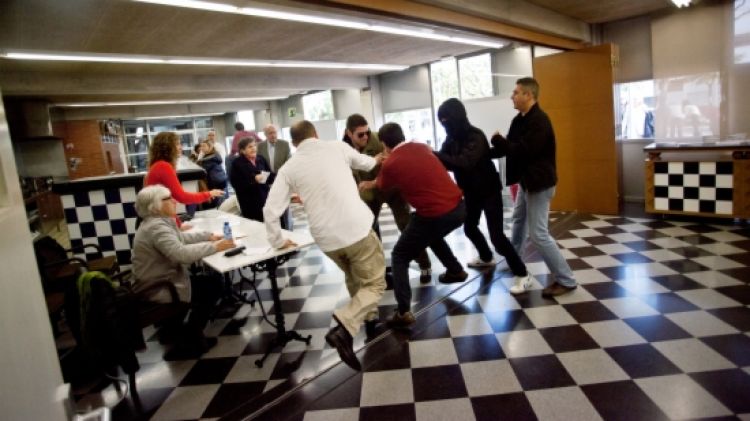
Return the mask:
<svg viewBox="0 0 750 421">
<path fill-rule="evenodd" d="M 245 0 L 214 0 L 258 5 Z M 232 59 L 304 60 L 412 66 L 484 47 L 355 29 L 145 4 L 130 0 L 3 0 L 0 50 L 45 50 Z M 338 1 L 275 1 L 318 13 L 456 32 L 447 27 L 371 13 Z M 549 31 L 531 11 L 556 23 L 557 35 L 575 38 L 563 26 L 587 26 L 668 7 L 666 0 L 477 0 L 422 1 L 443 9 L 501 21 L 511 7 L 519 26 Z M 377 2 L 373 3 L 377 4 Z M 473 7 L 471 5 L 474 5 Z M 476 5 L 484 7 L 477 11 Z M 521 5 L 526 9 L 521 8 Z M 533 10 L 532 10 L 533 9 Z M 548 25 L 549 26 L 549 25 Z M 573 28 L 573 26 L 571 26 Z M 579 31 L 573 28 L 572 31 Z M 580 31 L 579 31 L 580 32 Z M 461 34 L 456 32 L 457 34 Z M 462 35 L 472 35 L 464 32 Z M 473 34 L 477 36 L 476 34 Z M 481 36 L 485 36 L 483 34 Z M 495 37 L 496 40 L 502 40 Z M 585 40 L 584 40 L 585 41 Z M 205 65 L 42 62 L 0 59 L 0 90 L 6 96 L 72 101 L 288 96 L 320 89 L 367 86 L 373 70 L 278 69 Z"/>
</svg>

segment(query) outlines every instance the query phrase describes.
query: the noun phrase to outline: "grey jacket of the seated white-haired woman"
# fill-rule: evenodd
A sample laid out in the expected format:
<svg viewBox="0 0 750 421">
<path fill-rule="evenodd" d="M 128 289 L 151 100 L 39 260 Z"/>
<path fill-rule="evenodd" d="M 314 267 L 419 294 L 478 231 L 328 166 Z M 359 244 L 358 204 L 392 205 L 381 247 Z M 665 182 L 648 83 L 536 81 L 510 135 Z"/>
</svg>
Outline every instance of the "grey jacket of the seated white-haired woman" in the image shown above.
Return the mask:
<svg viewBox="0 0 750 421">
<path fill-rule="evenodd" d="M 190 278 L 186 265 L 216 253 L 209 242 L 211 233 L 185 233 L 174 218 L 149 217 L 143 220 L 133 241 L 133 289 L 138 292 L 149 285 L 168 280 L 175 284 L 181 301 L 190 301 Z M 161 292 L 151 300 L 168 301 Z"/>
</svg>

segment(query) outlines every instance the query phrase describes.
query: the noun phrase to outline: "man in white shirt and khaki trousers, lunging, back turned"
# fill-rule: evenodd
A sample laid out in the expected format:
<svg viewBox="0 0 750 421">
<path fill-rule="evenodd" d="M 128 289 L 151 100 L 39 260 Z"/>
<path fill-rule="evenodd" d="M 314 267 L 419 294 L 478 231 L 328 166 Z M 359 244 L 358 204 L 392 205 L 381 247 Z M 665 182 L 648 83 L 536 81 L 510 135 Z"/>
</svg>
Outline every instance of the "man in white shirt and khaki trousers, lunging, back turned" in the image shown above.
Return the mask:
<svg viewBox="0 0 750 421">
<path fill-rule="evenodd" d="M 351 170 L 369 170 L 382 161 L 357 153 L 343 142 L 317 138 L 315 126 L 303 120 L 291 128 L 297 151 L 276 175 L 263 208 L 268 241 L 276 248 L 294 243 L 284 239 L 279 217 L 297 193 L 307 213 L 318 247 L 344 271 L 351 300 L 336 309 L 337 325 L 326 335 L 341 359 L 355 370 L 362 366 L 354 353 L 353 337 L 362 323 L 377 318 L 385 291 L 385 256 L 372 230 L 373 215 L 360 200 Z"/>
</svg>

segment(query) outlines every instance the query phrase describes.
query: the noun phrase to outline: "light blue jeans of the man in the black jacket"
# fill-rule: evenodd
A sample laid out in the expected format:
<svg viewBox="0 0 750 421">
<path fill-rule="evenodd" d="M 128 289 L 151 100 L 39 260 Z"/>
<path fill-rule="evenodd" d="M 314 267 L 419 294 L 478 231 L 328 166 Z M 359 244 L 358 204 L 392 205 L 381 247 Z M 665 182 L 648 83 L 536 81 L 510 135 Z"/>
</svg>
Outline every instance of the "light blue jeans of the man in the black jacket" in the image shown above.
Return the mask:
<svg viewBox="0 0 750 421">
<path fill-rule="evenodd" d="M 557 282 L 566 287 L 574 287 L 576 280 L 573 279 L 573 271 L 549 233 L 549 202 L 554 195 L 554 186 L 535 193 L 518 189 L 513 208 L 511 243 L 518 254 L 522 255 L 528 237 Z"/>
</svg>

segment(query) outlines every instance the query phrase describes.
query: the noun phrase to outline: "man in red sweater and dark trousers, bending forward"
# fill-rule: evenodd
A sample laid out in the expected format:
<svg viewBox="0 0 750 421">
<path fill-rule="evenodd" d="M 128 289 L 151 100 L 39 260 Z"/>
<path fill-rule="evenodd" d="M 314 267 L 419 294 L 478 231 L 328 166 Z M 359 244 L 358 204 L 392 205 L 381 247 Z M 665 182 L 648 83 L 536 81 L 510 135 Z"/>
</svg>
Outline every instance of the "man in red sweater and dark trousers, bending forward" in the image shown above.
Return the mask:
<svg viewBox="0 0 750 421">
<path fill-rule="evenodd" d="M 396 189 L 416 210 L 391 253 L 398 309 L 389 324 L 403 327 L 415 321 L 411 312 L 409 262 L 422 250 L 429 246 L 440 263 L 447 268 L 438 278 L 440 282 L 462 282 L 468 277 L 444 239 L 451 231 L 463 225 L 466 207 L 461 189 L 450 178 L 429 146 L 404 142 L 404 132 L 396 123 L 381 127 L 378 137 L 385 145 L 388 158 L 383 162 L 378 177 L 361 182 L 360 189 Z"/>
</svg>

